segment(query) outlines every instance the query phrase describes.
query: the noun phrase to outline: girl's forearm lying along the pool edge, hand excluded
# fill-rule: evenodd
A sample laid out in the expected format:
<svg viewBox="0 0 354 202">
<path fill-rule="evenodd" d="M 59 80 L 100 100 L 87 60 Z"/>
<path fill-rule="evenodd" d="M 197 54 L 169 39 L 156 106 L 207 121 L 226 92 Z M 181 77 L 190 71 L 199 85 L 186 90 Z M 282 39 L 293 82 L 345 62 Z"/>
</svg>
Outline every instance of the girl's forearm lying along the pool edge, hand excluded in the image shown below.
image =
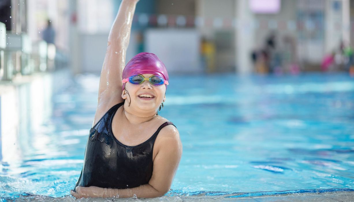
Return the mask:
<svg viewBox="0 0 354 202">
<path fill-rule="evenodd" d="M 131 198 L 134 195 L 138 198 L 155 198 L 164 195 L 166 192 L 158 191 L 149 184 L 144 184 L 131 189 L 106 189 L 103 198 L 119 197 Z"/>
</svg>

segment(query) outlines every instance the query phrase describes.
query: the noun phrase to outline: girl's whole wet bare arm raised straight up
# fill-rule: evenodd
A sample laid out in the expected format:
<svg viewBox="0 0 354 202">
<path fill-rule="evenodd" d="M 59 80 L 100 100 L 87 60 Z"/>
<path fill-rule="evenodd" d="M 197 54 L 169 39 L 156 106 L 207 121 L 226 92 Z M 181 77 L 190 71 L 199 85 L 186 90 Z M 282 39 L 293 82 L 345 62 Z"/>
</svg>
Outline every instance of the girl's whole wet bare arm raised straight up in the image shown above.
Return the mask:
<svg viewBox="0 0 354 202">
<path fill-rule="evenodd" d="M 110 108 L 112 104 L 123 102 L 121 98 L 122 71 L 125 66 L 125 54 L 129 45 L 131 25 L 138 1 L 122 0 L 110 30 L 107 52 L 99 81 L 97 111 L 105 112 L 107 111 L 106 108 Z M 98 114 L 96 112 L 96 115 Z M 95 116 L 95 119 L 99 119 L 101 116 Z"/>
</svg>

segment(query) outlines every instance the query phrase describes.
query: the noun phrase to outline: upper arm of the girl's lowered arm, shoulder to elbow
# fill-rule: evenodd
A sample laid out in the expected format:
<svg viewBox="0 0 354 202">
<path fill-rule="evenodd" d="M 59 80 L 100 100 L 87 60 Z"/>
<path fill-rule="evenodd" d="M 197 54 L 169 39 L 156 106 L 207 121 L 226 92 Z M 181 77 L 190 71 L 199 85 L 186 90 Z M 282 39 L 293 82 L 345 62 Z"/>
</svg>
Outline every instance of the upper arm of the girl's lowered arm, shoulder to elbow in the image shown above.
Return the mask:
<svg viewBox="0 0 354 202">
<path fill-rule="evenodd" d="M 182 143 L 178 130 L 172 125 L 161 129 L 156 142 L 158 142 L 158 148 L 156 148 L 158 153 L 154 159 L 153 174 L 149 184 L 165 194 L 171 187 L 181 160 Z"/>
</svg>

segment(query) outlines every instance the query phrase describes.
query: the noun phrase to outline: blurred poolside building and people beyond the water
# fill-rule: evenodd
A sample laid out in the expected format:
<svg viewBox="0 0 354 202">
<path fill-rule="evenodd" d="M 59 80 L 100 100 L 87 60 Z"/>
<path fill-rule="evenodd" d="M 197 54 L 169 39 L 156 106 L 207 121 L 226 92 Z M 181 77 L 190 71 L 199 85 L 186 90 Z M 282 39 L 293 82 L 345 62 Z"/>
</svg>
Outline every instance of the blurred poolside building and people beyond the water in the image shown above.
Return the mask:
<svg viewBox="0 0 354 202">
<path fill-rule="evenodd" d="M 99 73 L 120 2 L 1 0 L 0 22 L 7 30 L 2 47 L 17 48 L 1 57 L 2 61 L 17 58 L 13 64 L 2 62 L 1 79 L 51 68 Z M 154 52 L 171 73 L 349 71 L 353 4 L 350 0 L 142 0 L 126 59 Z M 22 44 L 12 42 L 18 39 Z M 45 57 L 47 64 L 41 63 Z"/>
</svg>

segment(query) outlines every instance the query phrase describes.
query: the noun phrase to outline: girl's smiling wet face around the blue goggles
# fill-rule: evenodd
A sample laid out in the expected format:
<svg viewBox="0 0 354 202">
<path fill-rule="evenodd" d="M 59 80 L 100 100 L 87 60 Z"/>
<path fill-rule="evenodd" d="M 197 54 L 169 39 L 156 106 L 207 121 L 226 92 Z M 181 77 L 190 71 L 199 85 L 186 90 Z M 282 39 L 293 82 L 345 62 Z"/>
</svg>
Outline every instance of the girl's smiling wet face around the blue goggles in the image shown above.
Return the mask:
<svg viewBox="0 0 354 202">
<path fill-rule="evenodd" d="M 152 75 L 143 74 L 145 78 L 149 78 Z M 127 82 L 125 89 L 127 92 L 123 90 L 122 98 L 137 111 L 157 111 L 161 103 L 166 100 L 166 86 L 164 84 L 155 86 L 149 81 L 144 81 L 141 84 Z"/>
</svg>

